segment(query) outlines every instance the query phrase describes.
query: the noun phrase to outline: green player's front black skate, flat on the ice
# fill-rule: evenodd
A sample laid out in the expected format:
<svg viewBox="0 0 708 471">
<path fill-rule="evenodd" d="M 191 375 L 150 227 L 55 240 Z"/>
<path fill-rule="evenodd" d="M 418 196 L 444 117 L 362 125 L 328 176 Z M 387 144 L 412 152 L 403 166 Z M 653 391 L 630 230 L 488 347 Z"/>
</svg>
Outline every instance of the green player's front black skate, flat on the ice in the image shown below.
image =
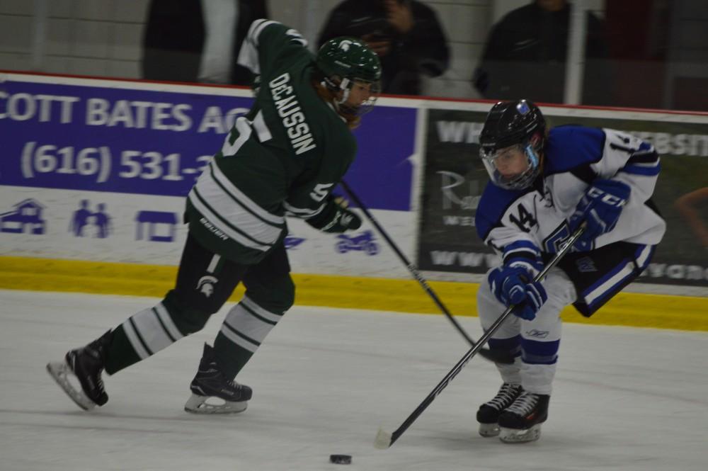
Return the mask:
<svg viewBox="0 0 708 471">
<path fill-rule="evenodd" d="M 204 353 L 199 362 L 197 375 L 189 385 L 192 396 L 184 404 L 184 410 L 193 414 L 236 414 L 244 412 L 253 391 L 246 385 L 224 376 L 214 358 L 214 348 L 204 344 Z M 219 404 L 207 402 L 217 398 Z"/>
</svg>

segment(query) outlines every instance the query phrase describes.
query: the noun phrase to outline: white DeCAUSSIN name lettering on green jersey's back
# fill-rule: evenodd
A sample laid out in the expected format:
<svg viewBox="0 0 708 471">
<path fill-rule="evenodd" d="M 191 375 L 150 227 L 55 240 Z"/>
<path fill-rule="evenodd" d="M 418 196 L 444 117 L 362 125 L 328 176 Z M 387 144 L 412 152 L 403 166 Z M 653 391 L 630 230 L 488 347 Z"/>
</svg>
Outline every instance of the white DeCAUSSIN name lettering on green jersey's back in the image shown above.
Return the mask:
<svg viewBox="0 0 708 471">
<path fill-rule="evenodd" d="M 273 96 L 275 108 L 282 118 L 282 125 L 285 126 L 285 132 L 287 132 L 292 148 L 295 149 L 295 154 L 299 155 L 317 147 L 312 132 L 305 123 L 305 115 L 295 98 L 295 93 L 293 93 L 295 90 L 290 85 L 290 74 L 285 72 L 285 74 L 275 77 L 268 83 L 268 86 L 270 86 L 270 94 Z"/>
</svg>

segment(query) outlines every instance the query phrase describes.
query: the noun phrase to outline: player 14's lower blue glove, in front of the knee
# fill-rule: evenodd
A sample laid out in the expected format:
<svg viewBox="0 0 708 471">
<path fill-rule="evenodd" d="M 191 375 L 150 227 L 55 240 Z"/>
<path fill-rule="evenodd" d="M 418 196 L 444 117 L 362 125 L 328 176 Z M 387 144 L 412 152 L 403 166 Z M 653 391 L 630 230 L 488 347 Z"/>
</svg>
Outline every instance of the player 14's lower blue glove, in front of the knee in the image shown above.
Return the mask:
<svg viewBox="0 0 708 471">
<path fill-rule="evenodd" d="M 489 272 L 489 285 L 496 298 L 509 307 L 515 316 L 528 321 L 535 319 L 548 295 L 543 285 L 532 281 L 532 273 L 518 266 L 502 266 Z"/>
</svg>

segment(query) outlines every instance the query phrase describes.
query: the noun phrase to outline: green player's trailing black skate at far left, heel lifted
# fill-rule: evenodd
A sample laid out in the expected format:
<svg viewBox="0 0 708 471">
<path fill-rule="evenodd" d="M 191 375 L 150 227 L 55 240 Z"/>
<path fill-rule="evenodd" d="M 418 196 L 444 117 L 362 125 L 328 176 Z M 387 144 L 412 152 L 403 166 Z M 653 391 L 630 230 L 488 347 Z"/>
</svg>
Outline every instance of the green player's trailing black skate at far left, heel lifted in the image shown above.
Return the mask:
<svg viewBox="0 0 708 471">
<path fill-rule="evenodd" d="M 105 365 L 105 350 L 110 344 L 110 335 L 109 330 L 91 344 L 69 351 L 64 356 L 64 361 L 47 363 L 47 372 L 76 402 L 76 405 L 86 411 L 108 402 L 101 373 Z M 81 390 L 69 382 L 69 374 L 76 376 Z"/>
</svg>

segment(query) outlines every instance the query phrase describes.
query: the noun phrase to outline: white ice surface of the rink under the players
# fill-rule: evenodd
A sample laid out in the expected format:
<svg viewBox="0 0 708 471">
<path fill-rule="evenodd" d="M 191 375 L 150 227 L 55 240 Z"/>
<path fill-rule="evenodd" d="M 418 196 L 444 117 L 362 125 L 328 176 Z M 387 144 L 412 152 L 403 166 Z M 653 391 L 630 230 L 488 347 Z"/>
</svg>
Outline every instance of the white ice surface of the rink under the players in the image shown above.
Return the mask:
<svg viewBox="0 0 708 471">
<path fill-rule="evenodd" d="M 549 420 L 535 443 L 476 433 L 499 385 L 476 357 L 388 450 L 394 431 L 467 346 L 440 315 L 295 307 L 237 378 L 236 416 L 183 412 L 202 342 L 223 319 L 105 378 L 110 401 L 79 410 L 45 372 L 154 305 L 139 297 L 0 290 L 0 470 L 703 471 L 708 334 L 565 324 Z M 476 318 L 460 318 L 473 338 Z"/>
</svg>

